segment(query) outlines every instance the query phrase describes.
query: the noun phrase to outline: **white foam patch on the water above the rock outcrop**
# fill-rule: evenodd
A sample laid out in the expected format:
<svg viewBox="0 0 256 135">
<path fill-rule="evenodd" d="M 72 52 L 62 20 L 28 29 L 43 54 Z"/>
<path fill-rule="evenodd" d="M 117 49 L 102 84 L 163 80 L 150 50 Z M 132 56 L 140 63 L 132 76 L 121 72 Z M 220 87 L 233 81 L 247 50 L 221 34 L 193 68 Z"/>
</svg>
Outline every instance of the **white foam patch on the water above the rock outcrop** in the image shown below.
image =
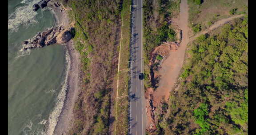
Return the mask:
<svg viewBox="0 0 256 135">
<path fill-rule="evenodd" d="M 36 4 L 40 0 L 23 0 L 21 4 L 25 4 L 22 7 L 17 7 L 8 17 L 8 29 L 16 31 L 20 25 L 37 23 L 35 17 L 37 12 L 33 11 L 33 4 Z"/>
</svg>

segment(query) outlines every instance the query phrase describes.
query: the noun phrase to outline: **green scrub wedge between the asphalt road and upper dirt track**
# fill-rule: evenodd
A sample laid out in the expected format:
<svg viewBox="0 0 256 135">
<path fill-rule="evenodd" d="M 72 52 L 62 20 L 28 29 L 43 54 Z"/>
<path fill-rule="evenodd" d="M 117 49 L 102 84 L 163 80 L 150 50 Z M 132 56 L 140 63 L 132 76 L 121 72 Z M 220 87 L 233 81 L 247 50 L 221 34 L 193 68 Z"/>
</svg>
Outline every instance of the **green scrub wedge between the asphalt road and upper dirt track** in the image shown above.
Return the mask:
<svg viewBox="0 0 256 135">
<path fill-rule="evenodd" d="M 175 16 L 173 9 L 179 10 L 180 0 L 158 0 L 157 5 L 153 5 L 152 0 L 144 1 L 144 54 L 145 64 L 150 60 L 150 54 L 154 48 L 165 41 L 176 41 L 176 33 L 166 23 L 166 19 Z M 153 18 L 157 14 L 158 18 Z M 162 18 L 162 19 L 161 19 Z M 153 19 L 155 19 L 153 21 Z M 164 20 L 165 19 L 165 20 Z"/>
</svg>

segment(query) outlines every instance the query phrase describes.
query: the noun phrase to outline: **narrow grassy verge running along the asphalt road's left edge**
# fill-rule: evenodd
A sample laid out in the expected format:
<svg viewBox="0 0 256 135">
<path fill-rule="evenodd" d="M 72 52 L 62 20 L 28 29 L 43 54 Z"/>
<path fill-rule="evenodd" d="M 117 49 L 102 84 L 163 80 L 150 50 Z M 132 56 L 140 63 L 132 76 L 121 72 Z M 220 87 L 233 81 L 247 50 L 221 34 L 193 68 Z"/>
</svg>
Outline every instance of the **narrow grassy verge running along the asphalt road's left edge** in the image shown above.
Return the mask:
<svg viewBox="0 0 256 135">
<path fill-rule="evenodd" d="M 120 71 L 119 75 L 119 88 L 118 88 L 118 97 L 121 97 L 117 100 L 116 107 L 116 135 L 127 135 L 128 134 L 128 111 L 129 111 L 129 58 L 130 58 L 130 38 L 131 38 L 131 28 L 130 28 L 130 19 L 131 11 L 130 5 L 131 0 L 123 0 L 122 11 L 121 11 L 121 48 L 120 48 Z"/>
</svg>

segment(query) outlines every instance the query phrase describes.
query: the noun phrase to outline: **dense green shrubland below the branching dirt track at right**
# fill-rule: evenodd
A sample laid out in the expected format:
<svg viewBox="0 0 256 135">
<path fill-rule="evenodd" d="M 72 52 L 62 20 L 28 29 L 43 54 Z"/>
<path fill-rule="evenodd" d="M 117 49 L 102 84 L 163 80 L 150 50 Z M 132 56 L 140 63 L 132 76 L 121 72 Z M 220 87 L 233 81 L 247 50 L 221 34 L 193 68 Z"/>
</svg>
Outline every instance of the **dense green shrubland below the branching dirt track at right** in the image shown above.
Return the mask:
<svg viewBox="0 0 256 135">
<path fill-rule="evenodd" d="M 180 78 L 161 135 L 248 135 L 248 16 L 188 44 Z"/>
</svg>

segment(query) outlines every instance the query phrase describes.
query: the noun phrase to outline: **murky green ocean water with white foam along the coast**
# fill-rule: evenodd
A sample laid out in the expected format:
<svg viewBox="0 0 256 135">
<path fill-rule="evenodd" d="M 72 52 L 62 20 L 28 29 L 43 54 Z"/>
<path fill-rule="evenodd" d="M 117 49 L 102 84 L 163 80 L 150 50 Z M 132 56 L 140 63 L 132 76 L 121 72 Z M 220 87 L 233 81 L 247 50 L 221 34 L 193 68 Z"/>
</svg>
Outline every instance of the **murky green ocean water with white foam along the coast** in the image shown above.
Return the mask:
<svg viewBox="0 0 256 135">
<path fill-rule="evenodd" d="M 64 46 L 20 52 L 22 41 L 55 24 L 47 8 L 32 11 L 38 1 L 8 0 L 8 135 L 52 134 L 65 96 Z"/>
</svg>

